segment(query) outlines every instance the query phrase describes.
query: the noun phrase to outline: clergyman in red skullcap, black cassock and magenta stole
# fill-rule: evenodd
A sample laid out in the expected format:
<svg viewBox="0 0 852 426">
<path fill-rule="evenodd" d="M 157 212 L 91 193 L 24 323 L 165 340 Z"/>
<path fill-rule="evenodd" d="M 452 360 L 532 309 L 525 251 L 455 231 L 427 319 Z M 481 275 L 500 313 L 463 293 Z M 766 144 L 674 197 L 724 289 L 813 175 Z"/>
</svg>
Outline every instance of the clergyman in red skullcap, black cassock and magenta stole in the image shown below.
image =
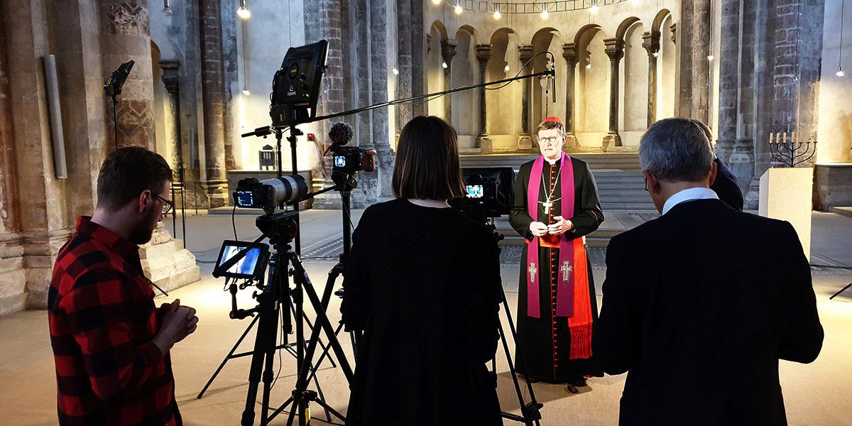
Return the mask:
<svg viewBox="0 0 852 426">
<path fill-rule="evenodd" d="M 521 164 L 509 222 L 526 239 L 518 290 L 517 371 L 533 381 L 566 383 L 573 393 L 592 362 L 595 285 L 584 236 L 603 222 L 589 165 L 562 152 L 565 125 L 538 125 L 541 156 Z"/>
</svg>

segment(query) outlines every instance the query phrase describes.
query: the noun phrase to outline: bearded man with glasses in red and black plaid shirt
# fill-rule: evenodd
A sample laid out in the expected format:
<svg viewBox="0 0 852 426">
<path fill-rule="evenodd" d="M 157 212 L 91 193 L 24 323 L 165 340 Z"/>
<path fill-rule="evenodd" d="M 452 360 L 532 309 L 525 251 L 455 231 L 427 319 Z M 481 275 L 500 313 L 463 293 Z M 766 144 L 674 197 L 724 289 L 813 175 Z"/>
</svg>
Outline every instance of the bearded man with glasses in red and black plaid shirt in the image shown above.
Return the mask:
<svg viewBox="0 0 852 426">
<path fill-rule="evenodd" d="M 147 149 L 110 154 L 95 215 L 78 219 L 56 258 L 48 316 L 60 424 L 181 424 L 169 350 L 198 318 L 178 300 L 155 307 L 137 246 L 171 208 L 171 176 Z"/>
</svg>

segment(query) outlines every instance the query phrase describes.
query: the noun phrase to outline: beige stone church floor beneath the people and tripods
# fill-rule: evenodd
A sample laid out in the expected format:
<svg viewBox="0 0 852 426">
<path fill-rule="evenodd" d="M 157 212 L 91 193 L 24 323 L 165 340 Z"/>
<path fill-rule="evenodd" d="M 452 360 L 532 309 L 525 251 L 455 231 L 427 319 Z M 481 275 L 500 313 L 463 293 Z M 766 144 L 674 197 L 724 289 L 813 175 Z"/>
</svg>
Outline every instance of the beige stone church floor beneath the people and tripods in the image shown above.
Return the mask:
<svg viewBox="0 0 852 426">
<path fill-rule="evenodd" d="M 354 212 L 354 222 L 359 216 L 360 211 Z M 826 266 L 852 265 L 849 243 L 852 241 L 852 218 L 832 213 L 814 213 L 813 217 L 812 262 Z M 253 239 L 258 235 L 253 221 L 253 216 L 234 217 L 239 239 Z M 340 213 L 313 210 L 302 216 L 302 222 L 305 265 L 315 285 L 321 287 L 341 244 Z M 170 222 L 167 227 L 171 227 Z M 204 398 L 196 399 L 199 390 L 249 324 L 249 320 L 228 319 L 229 296 L 222 291 L 222 281 L 210 276 L 210 262 L 216 260 L 221 240 L 233 237 L 230 216 L 187 216 L 187 248 L 197 256 L 203 280 L 171 291 L 170 296 L 158 296 L 158 302 L 179 297 L 182 303 L 199 308 L 198 331 L 172 352 L 177 398 L 188 425 L 236 424 L 245 406 L 248 357 L 229 361 Z M 605 273 L 602 255 L 603 250 L 593 250 L 598 292 Z M 516 253 L 511 248 L 504 250 L 504 288 L 513 312 L 518 276 L 515 259 Z M 813 364 L 780 363 L 787 416 L 791 424 L 852 424 L 852 398 L 849 397 L 852 395 L 852 357 L 849 356 L 852 354 L 852 338 L 849 337 L 852 291 L 828 300 L 828 296 L 852 280 L 852 268 L 814 268 L 813 277 L 826 341 Z M 250 290 L 239 292 L 239 304 L 244 308 L 252 305 Z M 338 307 L 335 297 L 328 309 L 332 322 L 339 319 Z M 308 315 L 313 318 L 310 309 Z M 248 340 L 242 350 L 250 349 L 251 339 Z M 345 338 L 343 346 L 348 346 Z M 351 349 L 346 350 L 351 356 Z M 283 353 L 274 366 L 280 371 L 272 392 L 277 406 L 289 396 L 293 387 L 295 360 Z M 0 318 L 0 383 L 3 383 L 0 385 L 0 412 L 4 425 L 55 424 L 53 369 L 44 311 L 26 311 Z M 518 403 L 502 351 L 498 352 L 498 370 L 502 371 L 498 378 L 501 404 L 505 410 L 517 412 Z M 326 400 L 345 412 L 348 389 L 343 373 L 326 364 L 318 376 Z M 624 380 L 624 375 L 593 379 L 579 394 L 569 394 L 561 386 L 537 383 L 536 396 L 544 402 L 542 424 L 616 424 Z M 719 383 L 708 385 L 736 386 L 736 383 L 737 377 L 720 377 Z M 324 418 L 319 407 L 314 406 L 314 416 Z M 276 418 L 273 424 L 285 424 L 285 417 Z M 506 421 L 505 424 L 513 423 Z"/>
</svg>

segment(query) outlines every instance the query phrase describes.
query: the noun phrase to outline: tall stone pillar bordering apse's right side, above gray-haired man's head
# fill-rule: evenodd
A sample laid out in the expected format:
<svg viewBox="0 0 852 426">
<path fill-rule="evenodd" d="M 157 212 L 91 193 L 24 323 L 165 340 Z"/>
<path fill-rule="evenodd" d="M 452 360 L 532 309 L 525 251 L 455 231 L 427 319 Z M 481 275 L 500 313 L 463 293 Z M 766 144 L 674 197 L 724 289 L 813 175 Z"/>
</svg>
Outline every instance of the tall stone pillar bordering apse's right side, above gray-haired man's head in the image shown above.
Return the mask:
<svg viewBox="0 0 852 426">
<path fill-rule="evenodd" d="M 693 0 L 692 118 L 710 124 L 710 0 Z M 683 47 L 687 47 L 683 45 Z"/>
</svg>

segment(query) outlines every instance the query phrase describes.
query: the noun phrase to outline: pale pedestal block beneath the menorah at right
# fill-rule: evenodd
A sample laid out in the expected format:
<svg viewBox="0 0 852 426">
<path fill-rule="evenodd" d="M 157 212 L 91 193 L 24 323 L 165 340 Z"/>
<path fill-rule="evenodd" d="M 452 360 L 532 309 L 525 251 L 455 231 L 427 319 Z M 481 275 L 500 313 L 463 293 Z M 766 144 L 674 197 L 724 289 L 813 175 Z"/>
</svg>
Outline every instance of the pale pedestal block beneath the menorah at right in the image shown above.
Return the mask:
<svg viewBox="0 0 852 426">
<path fill-rule="evenodd" d="M 813 191 L 814 169 L 810 167 L 769 169 L 760 176 L 760 216 L 790 222 L 808 259 Z"/>
</svg>

